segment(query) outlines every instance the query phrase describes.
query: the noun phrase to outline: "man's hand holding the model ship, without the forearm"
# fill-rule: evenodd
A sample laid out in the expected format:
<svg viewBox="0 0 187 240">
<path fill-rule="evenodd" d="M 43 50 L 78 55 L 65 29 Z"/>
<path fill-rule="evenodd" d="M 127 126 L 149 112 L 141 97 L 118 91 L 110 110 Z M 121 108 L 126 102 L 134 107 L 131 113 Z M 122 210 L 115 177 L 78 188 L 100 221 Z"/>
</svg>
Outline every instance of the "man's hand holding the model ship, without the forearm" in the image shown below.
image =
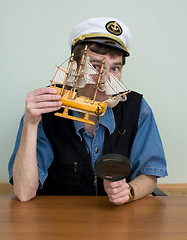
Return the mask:
<svg viewBox="0 0 187 240">
<path fill-rule="evenodd" d="M 62 103 L 57 90 L 50 87 L 39 88 L 29 92 L 25 100 L 25 120 L 32 124 L 39 124 L 43 113 L 57 111 Z"/>
</svg>

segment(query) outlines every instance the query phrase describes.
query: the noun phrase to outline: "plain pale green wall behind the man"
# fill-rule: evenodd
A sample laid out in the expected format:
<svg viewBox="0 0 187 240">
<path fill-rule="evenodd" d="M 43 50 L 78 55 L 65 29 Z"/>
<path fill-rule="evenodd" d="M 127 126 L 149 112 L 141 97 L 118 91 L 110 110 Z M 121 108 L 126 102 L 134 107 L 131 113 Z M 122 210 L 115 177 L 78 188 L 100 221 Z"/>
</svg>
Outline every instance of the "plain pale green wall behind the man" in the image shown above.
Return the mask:
<svg viewBox="0 0 187 240">
<path fill-rule="evenodd" d="M 114 16 L 133 35 L 124 82 L 144 93 L 158 123 L 169 176 L 187 182 L 186 0 L 0 0 L 0 181 L 8 181 L 28 91 L 49 83 L 69 56 L 69 30 L 89 17 Z"/>
</svg>

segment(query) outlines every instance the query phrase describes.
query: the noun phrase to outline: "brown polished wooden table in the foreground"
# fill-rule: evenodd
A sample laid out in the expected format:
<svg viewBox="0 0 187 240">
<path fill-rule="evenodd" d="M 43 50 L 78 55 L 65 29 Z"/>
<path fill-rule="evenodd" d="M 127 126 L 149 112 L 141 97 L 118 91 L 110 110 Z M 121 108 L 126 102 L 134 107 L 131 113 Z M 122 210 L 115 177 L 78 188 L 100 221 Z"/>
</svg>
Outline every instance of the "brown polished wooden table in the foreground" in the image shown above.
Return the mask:
<svg viewBox="0 0 187 240">
<path fill-rule="evenodd" d="M 114 206 L 107 197 L 0 196 L 2 240 L 187 239 L 187 197 L 146 197 Z"/>
</svg>

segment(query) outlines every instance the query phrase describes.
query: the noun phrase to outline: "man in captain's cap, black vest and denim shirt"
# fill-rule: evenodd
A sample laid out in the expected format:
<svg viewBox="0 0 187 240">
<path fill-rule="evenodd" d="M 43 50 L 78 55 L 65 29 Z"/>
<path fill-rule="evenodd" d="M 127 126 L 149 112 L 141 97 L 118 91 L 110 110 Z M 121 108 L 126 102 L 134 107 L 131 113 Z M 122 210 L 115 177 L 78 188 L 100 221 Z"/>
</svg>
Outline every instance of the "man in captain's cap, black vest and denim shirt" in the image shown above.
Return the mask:
<svg viewBox="0 0 187 240">
<path fill-rule="evenodd" d="M 71 49 L 79 62 L 88 46 L 90 62 L 98 71 L 106 56 L 109 74 L 121 80 L 130 55 L 131 34 L 118 19 L 94 18 L 71 32 Z M 93 97 L 95 86 L 87 84 L 78 94 Z M 158 177 L 167 175 L 166 160 L 153 113 L 142 95 L 131 92 L 127 101 L 107 108 L 102 117 L 91 116 L 95 125 L 54 116 L 61 108 L 60 96 L 49 87 L 28 93 L 15 149 L 9 163 L 10 182 L 20 201 L 37 194 L 108 195 L 116 205 L 150 194 Z M 108 98 L 98 91 L 96 100 Z M 79 116 L 73 111 L 74 116 Z M 94 181 L 94 163 L 106 153 L 128 157 L 133 173 L 116 182 Z M 96 183 L 96 184 L 94 184 Z"/>
</svg>

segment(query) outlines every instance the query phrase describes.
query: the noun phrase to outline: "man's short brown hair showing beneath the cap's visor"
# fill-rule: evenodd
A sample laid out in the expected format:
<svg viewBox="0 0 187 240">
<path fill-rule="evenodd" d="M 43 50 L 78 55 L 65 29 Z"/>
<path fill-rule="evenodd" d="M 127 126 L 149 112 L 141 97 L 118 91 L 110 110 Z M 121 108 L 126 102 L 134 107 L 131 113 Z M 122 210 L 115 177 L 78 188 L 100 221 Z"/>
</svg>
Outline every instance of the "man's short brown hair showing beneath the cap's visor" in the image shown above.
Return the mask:
<svg viewBox="0 0 187 240">
<path fill-rule="evenodd" d="M 122 56 L 122 64 L 125 65 L 126 58 L 125 58 L 125 53 L 123 52 L 123 50 L 120 50 L 118 48 L 114 48 L 111 46 L 107 46 L 107 45 L 104 45 L 101 43 L 96 43 L 96 42 L 82 42 L 82 43 L 79 43 L 73 49 L 74 59 L 77 61 L 78 64 L 81 61 L 81 57 L 83 55 L 84 48 L 86 45 L 94 53 L 98 53 L 101 55 L 109 54 L 109 56 L 111 58 L 114 58 L 116 56 Z"/>
</svg>

